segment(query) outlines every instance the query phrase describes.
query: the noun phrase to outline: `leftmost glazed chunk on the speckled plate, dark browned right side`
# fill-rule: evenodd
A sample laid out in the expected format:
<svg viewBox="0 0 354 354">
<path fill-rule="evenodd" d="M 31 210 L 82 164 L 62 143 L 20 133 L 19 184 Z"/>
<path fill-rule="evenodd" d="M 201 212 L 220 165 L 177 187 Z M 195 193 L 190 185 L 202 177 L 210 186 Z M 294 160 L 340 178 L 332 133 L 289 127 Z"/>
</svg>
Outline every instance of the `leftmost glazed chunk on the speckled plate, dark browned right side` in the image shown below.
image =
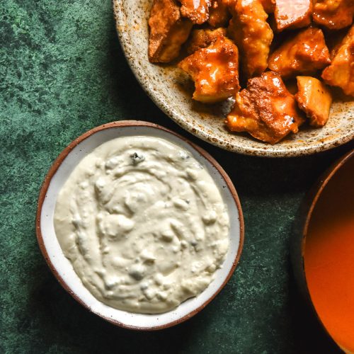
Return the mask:
<svg viewBox="0 0 354 354">
<path fill-rule="evenodd" d="M 154 0 L 149 18 L 149 61 L 164 63 L 178 57 L 192 25 L 181 18 L 175 0 Z"/>
</svg>

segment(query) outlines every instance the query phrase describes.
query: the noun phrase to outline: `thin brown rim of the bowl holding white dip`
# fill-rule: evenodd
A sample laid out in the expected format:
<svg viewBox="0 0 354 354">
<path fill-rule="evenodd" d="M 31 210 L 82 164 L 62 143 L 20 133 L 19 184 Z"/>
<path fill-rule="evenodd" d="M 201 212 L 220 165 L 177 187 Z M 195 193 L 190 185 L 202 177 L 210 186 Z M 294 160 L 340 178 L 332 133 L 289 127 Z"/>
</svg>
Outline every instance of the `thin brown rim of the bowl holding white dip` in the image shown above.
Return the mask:
<svg viewBox="0 0 354 354">
<path fill-rule="evenodd" d="M 109 128 L 112 128 L 112 127 L 153 127 L 153 128 L 159 129 L 159 130 L 164 130 L 164 132 L 168 132 L 171 135 L 175 135 L 176 137 L 182 139 L 184 142 L 188 143 L 199 154 L 201 154 L 203 157 L 205 157 L 205 159 L 207 159 L 207 161 L 209 161 L 210 164 L 212 164 L 212 166 L 214 166 L 217 169 L 217 171 L 222 175 L 222 178 L 224 178 L 225 183 L 227 183 L 227 187 L 229 188 L 230 192 L 232 193 L 232 197 L 234 198 L 234 201 L 236 202 L 236 207 L 237 207 L 237 210 L 239 212 L 239 223 L 240 223 L 239 249 L 238 249 L 236 257 L 234 259 L 232 268 L 230 269 L 230 271 L 229 271 L 229 273 L 227 275 L 227 278 L 225 278 L 224 282 L 222 283 L 222 285 L 220 285 L 220 287 L 217 289 L 217 291 L 209 299 L 207 299 L 207 301 L 205 301 L 202 305 L 200 305 L 200 307 L 198 307 L 197 309 L 194 309 L 189 314 L 186 314 L 181 319 L 177 319 L 175 321 L 171 321 L 169 324 L 165 324 L 163 326 L 153 326 L 153 327 L 149 327 L 149 328 L 143 328 L 143 327 L 139 327 L 139 326 L 128 326 L 126 324 L 122 324 L 120 321 L 115 321 L 115 320 L 110 319 L 110 318 L 108 318 L 106 316 L 103 316 L 101 314 L 93 312 L 91 310 L 91 308 L 89 306 L 87 306 L 87 304 L 84 303 L 69 288 L 69 286 L 67 285 L 65 280 L 59 275 L 59 273 L 57 272 L 55 266 L 50 261 L 50 258 L 49 258 L 48 253 L 47 253 L 47 249 L 45 248 L 44 241 L 43 241 L 43 238 L 42 238 L 42 232 L 41 232 L 41 229 L 40 229 L 40 219 L 41 219 L 41 214 L 42 214 L 42 205 L 43 205 L 43 202 L 45 200 L 45 195 L 47 194 L 47 190 L 48 190 L 48 187 L 50 185 L 50 181 L 52 181 L 52 177 L 57 172 L 57 169 L 62 164 L 62 161 L 64 161 L 64 159 L 67 157 L 69 152 L 71 152 L 72 149 L 74 149 L 74 147 L 76 147 L 76 145 L 78 145 L 80 142 L 84 141 L 84 139 L 87 139 L 88 137 L 91 137 L 91 135 L 95 134 L 96 132 L 100 132 L 101 130 L 106 130 L 106 129 L 109 129 Z M 50 167 L 50 170 L 47 173 L 47 176 L 45 176 L 45 180 L 42 183 L 42 187 L 40 188 L 40 195 L 38 197 L 37 214 L 36 214 L 36 218 L 35 218 L 35 232 L 36 232 L 36 235 L 37 235 L 38 244 L 40 246 L 40 251 L 42 252 L 43 257 L 45 258 L 45 261 L 47 262 L 47 265 L 49 265 L 50 270 L 52 270 L 52 273 L 55 275 L 55 278 L 57 278 L 57 280 L 59 281 L 60 285 L 62 285 L 62 287 L 64 287 L 64 289 L 67 292 L 69 292 L 69 294 L 72 295 L 72 297 L 74 297 L 74 299 L 76 299 L 77 302 L 79 302 L 82 306 L 86 307 L 86 309 L 88 309 L 90 312 L 93 312 L 97 316 L 100 316 L 102 319 L 105 319 L 105 321 L 108 321 L 111 324 L 115 324 L 115 326 L 120 326 L 120 327 L 125 328 L 125 329 L 134 329 L 134 330 L 137 330 L 137 331 L 154 331 L 154 330 L 158 330 L 158 329 L 166 329 L 166 328 L 169 328 L 171 326 L 175 326 L 176 324 L 181 324 L 182 322 L 186 321 L 187 319 L 190 319 L 191 317 L 193 317 L 195 314 L 198 314 L 198 312 L 200 312 L 202 309 L 204 309 L 207 306 L 207 304 L 209 304 L 212 301 L 212 299 L 214 299 L 217 296 L 217 294 L 219 294 L 219 292 L 222 290 L 222 288 L 227 284 L 227 282 L 231 278 L 232 274 L 234 273 L 234 270 L 236 269 L 236 265 L 239 263 L 239 258 L 241 256 L 241 252 L 242 252 L 242 249 L 243 249 L 243 246 L 244 246 L 244 215 L 242 214 L 242 209 L 241 209 L 241 203 L 239 201 L 239 196 L 237 195 L 236 189 L 234 188 L 234 184 L 232 183 L 231 179 L 229 178 L 227 173 L 224 171 L 224 169 L 222 169 L 222 166 L 220 166 L 219 163 L 217 161 L 215 161 L 215 159 L 209 153 L 207 153 L 204 149 L 202 149 L 201 147 L 198 147 L 193 142 L 190 142 L 185 137 L 182 137 L 181 135 L 178 135 L 176 132 L 173 132 L 173 131 L 171 131 L 169 129 L 166 129 L 165 127 L 162 127 L 161 125 L 156 125 L 156 124 L 151 123 L 151 122 L 144 122 L 142 120 L 121 120 L 121 121 L 118 121 L 118 122 L 110 122 L 110 123 L 107 123 L 107 124 L 100 125 L 98 127 L 94 127 L 93 129 L 85 132 L 83 135 L 80 135 L 73 142 L 71 142 L 59 154 L 57 159 L 55 159 L 54 163 L 52 164 L 52 166 Z"/>
</svg>

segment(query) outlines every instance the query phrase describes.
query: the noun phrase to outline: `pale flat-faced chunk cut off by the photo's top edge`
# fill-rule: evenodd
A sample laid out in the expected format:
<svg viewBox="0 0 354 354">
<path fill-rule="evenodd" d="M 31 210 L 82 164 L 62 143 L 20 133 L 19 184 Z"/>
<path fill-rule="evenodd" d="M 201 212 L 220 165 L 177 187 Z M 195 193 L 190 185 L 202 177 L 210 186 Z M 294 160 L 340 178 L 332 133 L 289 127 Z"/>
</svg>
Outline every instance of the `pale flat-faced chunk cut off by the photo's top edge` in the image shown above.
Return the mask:
<svg viewBox="0 0 354 354">
<path fill-rule="evenodd" d="M 311 23 L 312 0 L 275 0 L 275 23 L 278 32 L 302 28 Z"/>
</svg>

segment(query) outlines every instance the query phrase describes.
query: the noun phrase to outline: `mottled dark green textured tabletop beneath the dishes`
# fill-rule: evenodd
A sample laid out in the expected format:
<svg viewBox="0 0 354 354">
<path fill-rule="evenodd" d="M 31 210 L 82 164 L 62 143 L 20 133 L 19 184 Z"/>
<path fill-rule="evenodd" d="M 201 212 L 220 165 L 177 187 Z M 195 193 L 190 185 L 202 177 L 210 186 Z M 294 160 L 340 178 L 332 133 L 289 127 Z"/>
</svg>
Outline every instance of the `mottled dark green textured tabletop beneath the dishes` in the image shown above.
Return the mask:
<svg viewBox="0 0 354 354">
<path fill-rule="evenodd" d="M 348 144 L 259 159 L 191 137 L 140 89 L 108 0 L 1 0 L 0 23 L 0 353 L 329 351 L 302 311 L 288 241 L 304 193 Z M 89 314 L 57 283 L 35 239 L 40 185 L 57 154 L 86 130 L 122 119 L 157 122 L 205 147 L 244 210 L 244 252 L 230 282 L 193 319 L 156 333 Z"/>
</svg>

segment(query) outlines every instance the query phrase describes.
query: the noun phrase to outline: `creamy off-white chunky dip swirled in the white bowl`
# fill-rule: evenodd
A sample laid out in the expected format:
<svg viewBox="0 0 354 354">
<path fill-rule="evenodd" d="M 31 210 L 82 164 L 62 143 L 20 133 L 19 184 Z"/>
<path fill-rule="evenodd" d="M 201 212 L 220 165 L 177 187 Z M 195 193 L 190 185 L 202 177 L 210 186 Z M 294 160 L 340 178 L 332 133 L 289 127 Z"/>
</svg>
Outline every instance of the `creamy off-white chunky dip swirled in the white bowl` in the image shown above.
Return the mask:
<svg viewBox="0 0 354 354">
<path fill-rule="evenodd" d="M 59 192 L 64 255 L 98 300 L 157 314 L 195 297 L 229 247 L 229 214 L 205 166 L 157 137 L 120 137 L 80 161 Z"/>
</svg>

